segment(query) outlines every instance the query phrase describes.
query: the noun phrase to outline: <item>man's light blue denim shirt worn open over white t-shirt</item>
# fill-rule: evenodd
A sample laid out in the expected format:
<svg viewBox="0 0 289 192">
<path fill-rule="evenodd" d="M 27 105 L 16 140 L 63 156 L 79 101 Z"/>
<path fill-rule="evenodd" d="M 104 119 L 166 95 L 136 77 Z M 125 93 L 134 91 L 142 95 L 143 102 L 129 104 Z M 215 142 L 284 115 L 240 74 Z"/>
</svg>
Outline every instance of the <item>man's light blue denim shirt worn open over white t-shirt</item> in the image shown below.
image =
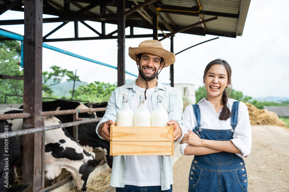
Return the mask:
<svg viewBox="0 0 289 192">
<path fill-rule="evenodd" d="M 96 132 L 98 133 L 98 126 L 108 120 L 116 121 L 116 114 L 122 106 L 123 93 L 128 93 L 128 104 L 137 97 L 136 95 L 136 80 L 132 83 L 117 87 L 111 94 L 108 106 L 106 107 L 105 114 L 99 124 L 97 125 Z M 183 129 L 182 117 L 183 117 L 183 99 L 179 90 L 173 87 L 166 86 L 157 80 L 157 86 L 151 96 L 152 109 L 155 109 L 157 104 L 157 93 L 162 94 L 162 103 L 164 108 L 167 109 L 168 119 L 175 120 L 179 123 L 181 129 Z M 138 99 L 138 98 L 137 98 Z M 179 140 L 180 142 L 184 136 L 183 134 Z M 101 136 L 99 136 L 102 138 Z M 173 181 L 173 164 L 171 157 L 169 156 L 158 156 L 160 161 L 160 174 L 161 174 L 161 188 L 168 190 L 171 188 L 170 183 Z M 126 156 L 118 155 L 113 157 L 112 174 L 110 179 L 110 185 L 113 187 L 124 187 L 126 177 Z"/>
</svg>

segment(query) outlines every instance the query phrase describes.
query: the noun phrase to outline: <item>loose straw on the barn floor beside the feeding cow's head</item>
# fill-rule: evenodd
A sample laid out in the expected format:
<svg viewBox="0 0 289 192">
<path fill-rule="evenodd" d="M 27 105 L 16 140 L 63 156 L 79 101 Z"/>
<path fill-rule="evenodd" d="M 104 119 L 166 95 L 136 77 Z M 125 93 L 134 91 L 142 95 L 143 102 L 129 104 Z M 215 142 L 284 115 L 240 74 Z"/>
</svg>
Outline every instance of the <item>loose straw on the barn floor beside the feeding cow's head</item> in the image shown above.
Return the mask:
<svg viewBox="0 0 289 192">
<path fill-rule="evenodd" d="M 90 180 L 87 184 L 86 192 L 107 192 L 114 188 L 110 186 L 110 175 L 111 172 L 101 173 L 97 178 Z M 77 190 L 67 192 L 78 192 Z"/>
</svg>

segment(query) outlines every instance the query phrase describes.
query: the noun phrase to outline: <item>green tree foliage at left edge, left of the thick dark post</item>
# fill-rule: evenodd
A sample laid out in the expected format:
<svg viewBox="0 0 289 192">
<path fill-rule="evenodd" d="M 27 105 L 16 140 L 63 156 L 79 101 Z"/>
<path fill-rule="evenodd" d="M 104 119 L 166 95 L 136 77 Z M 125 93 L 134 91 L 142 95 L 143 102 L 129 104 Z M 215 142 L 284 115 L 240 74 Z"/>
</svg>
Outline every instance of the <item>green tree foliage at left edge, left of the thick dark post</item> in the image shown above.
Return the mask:
<svg viewBox="0 0 289 192">
<path fill-rule="evenodd" d="M 14 48 L 12 48 L 14 47 Z M 0 41 L 0 75 L 23 76 L 21 66 L 21 46 L 18 41 Z M 5 94 L 23 95 L 23 81 L 0 79 L 0 103 L 4 103 Z M 8 96 L 7 103 L 22 103 L 22 97 Z"/>
</svg>

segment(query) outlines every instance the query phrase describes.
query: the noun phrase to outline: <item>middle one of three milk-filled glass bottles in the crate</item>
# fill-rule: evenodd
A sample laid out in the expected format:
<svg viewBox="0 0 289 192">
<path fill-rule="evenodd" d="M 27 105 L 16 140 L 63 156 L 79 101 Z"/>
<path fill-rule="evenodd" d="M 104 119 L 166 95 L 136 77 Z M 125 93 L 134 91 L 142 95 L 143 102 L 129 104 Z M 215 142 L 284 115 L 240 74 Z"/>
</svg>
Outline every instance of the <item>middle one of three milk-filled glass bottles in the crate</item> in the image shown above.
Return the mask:
<svg viewBox="0 0 289 192">
<path fill-rule="evenodd" d="M 151 113 L 144 105 L 144 93 L 140 94 L 140 104 L 134 112 L 134 126 L 135 127 L 150 127 L 151 126 Z"/>
</svg>

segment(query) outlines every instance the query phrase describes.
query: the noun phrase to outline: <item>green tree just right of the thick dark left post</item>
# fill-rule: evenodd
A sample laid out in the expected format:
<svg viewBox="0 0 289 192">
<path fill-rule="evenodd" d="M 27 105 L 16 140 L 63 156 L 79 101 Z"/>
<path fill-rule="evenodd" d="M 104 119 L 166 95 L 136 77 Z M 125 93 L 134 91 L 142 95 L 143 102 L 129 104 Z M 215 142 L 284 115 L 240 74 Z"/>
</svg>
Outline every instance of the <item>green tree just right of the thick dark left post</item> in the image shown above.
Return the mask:
<svg viewBox="0 0 289 192">
<path fill-rule="evenodd" d="M 74 81 L 73 71 L 68 71 L 67 69 L 61 69 L 58 66 L 51 66 L 52 72 L 43 71 L 42 72 L 42 91 L 44 91 L 43 97 L 53 97 L 51 86 L 61 83 L 64 79 L 66 81 Z M 52 79 L 53 83 L 48 84 L 48 80 Z M 80 81 L 79 76 L 75 77 L 75 81 Z"/>
</svg>

